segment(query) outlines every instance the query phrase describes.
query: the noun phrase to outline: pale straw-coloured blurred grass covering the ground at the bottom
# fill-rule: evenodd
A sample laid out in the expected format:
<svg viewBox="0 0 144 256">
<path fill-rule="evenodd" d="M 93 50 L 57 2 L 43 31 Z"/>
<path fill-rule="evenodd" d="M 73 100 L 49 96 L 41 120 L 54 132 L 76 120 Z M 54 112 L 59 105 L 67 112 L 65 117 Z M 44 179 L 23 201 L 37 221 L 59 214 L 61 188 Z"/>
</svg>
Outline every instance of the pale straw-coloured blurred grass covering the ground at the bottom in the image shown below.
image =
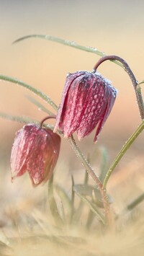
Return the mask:
<svg viewBox="0 0 144 256">
<path fill-rule="evenodd" d="M 74 178 L 80 182 L 81 177 L 84 180 L 84 170 L 78 169 Z M 56 226 L 48 206 L 48 185 L 32 188 L 27 175 L 12 184 L 9 175 L 3 174 L 0 184 L 1 255 L 142 256 L 143 202 L 132 211 L 124 209 L 132 199 L 144 192 L 143 177 L 143 156 L 125 163 L 125 167 L 112 176 L 109 193 L 113 198 L 114 216 L 117 217 L 116 229 L 104 231 L 96 218 L 90 229 L 85 228 L 86 205 L 80 221 L 73 225 L 65 223 L 61 227 Z M 65 164 L 57 166 L 54 183 L 65 187 L 68 194 L 71 193 L 71 179 L 68 180 Z M 55 198 L 60 207 L 63 202 L 56 194 Z"/>
</svg>

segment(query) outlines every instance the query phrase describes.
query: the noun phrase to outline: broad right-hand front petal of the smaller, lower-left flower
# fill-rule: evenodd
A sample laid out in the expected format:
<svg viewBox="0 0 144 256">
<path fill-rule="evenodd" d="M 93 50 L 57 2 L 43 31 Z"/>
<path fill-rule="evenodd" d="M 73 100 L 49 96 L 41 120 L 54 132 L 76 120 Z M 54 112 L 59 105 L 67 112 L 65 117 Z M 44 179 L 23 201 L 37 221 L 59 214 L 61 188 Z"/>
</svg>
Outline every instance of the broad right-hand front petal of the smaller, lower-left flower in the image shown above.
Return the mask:
<svg viewBox="0 0 144 256">
<path fill-rule="evenodd" d="M 40 128 L 37 137 L 32 143 L 30 153 L 27 156 L 27 171 L 29 172 L 33 185 L 39 185 L 41 182 L 48 180 L 58 159 L 60 145 L 54 146 L 54 144 L 56 138 L 58 140 L 59 136 L 53 133 L 53 138 L 52 133 L 50 129 Z M 58 151 L 56 151 L 57 148 Z M 53 160 L 54 154 L 56 155 L 55 162 Z"/>
</svg>

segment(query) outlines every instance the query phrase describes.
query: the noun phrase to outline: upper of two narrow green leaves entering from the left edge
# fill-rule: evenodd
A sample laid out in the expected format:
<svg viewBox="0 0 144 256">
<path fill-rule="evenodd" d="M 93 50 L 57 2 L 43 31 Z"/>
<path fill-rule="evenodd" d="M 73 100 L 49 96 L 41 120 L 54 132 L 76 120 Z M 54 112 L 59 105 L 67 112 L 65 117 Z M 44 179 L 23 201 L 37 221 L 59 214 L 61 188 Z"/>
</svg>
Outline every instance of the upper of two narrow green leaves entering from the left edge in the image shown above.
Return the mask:
<svg viewBox="0 0 144 256">
<path fill-rule="evenodd" d="M 29 89 L 31 92 L 34 92 L 37 96 L 41 97 L 42 100 L 45 100 L 45 102 L 47 102 L 48 104 L 50 104 L 51 107 L 53 107 L 54 110 L 58 110 L 57 105 L 55 105 L 55 103 L 53 102 L 53 100 L 50 99 L 50 97 L 48 97 L 48 95 L 46 95 L 45 93 L 41 92 L 38 89 L 35 89 L 34 87 L 32 87 L 30 84 L 26 84 L 23 81 L 20 81 L 19 79 L 14 79 L 12 77 L 9 76 L 3 76 L 0 75 L 0 80 L 3 81 L 10 81 L 14 84 L 17 84 L 21 87 L 27 88 Z"/>
</svg>

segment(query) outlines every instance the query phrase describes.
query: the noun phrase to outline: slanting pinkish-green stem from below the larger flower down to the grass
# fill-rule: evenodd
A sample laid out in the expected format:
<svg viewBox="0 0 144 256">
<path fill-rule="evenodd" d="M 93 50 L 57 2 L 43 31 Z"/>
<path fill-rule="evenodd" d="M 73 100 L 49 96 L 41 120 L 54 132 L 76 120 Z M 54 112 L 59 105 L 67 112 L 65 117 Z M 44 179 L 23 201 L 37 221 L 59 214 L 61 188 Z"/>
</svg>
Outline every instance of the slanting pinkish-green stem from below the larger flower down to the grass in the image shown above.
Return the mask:
<svg viewBox="0 0 144 256">
<path fill-rule="evenodd" d="M 102 182 L 96 176 L 96 174 L 94 172 L 94 169 L 92 169 L 91 165 L 86 160 L 86 157 L 84 156 L 84 154 L 81 153 L 81 151 L 78 148 L 78 145 L 76 144 L 76 141 L 74 140 L 73 136 L 71 136 L 69 138 L 69 141 L 71 143 L 73 151 L 76 153 L 76 156 L 78 156 L 78 159 L 84 165 L 84 167 L 86 168 L 86 171 L 89 172 L 89 175 L 91 175 L 91 177 L 94 180 L 96 186 L 98 187 L 98 189 L 99 189 L 99 191 L 102 195 L 102 200 L 103 200 L 103 203 L 104 203 L 106 224 L 108 226 L 112 226 L 112 216 L 111 216 L 111 213 L 110 213 L 110 207 L 109 207 L 109 201 L 108 201 L 108 198 L 107 198 L 106 189 L 102 187 Z"/>
</svg>

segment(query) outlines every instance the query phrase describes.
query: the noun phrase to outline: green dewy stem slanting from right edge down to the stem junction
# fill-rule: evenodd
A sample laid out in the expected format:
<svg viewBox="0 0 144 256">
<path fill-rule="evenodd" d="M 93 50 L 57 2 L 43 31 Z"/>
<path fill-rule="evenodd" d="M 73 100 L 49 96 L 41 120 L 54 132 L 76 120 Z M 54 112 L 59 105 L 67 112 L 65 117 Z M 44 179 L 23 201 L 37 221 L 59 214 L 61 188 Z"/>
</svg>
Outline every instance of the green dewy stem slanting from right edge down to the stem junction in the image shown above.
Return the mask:
<svg viewBox="0 0 144 256">
<path fill-rule="evenodd" d="M 122 146 L 122 149 L 120 150 L 119 154 L 117 154 L 116 158 L 114 159 L 114 162 L 111 164 L 111 166 L 109 167 L 108 171 L 107 171 L 107 175 L 104 179 L 104 183 L 103 183 L 103 189 L 105 189 L 107 187 L 107 182 L 109 180 L 109 177 L 112 175 L 112 172 L 114 171 L 114 168 L 117 166 L 117 164 L 120 162 L 120 159 L 122 159 L 122 156 L 125 154 L 125 152 L 127 151 L 127 149 L 130 148 L 131 144 L 135 141 L 135 139 L 140 135 L 140 133 L 143 131 L 144 129 L 144 120 L 142 123 L 140 123 L 140 125 L 138 126 L 138 128 L 136 129 L 136 131 L 134 133 L 132 133 L 132 136 L 130 136 L 130 138 L 127 140 L 127 142 L 125 143 L 124 146 Z"/>
</svg>

